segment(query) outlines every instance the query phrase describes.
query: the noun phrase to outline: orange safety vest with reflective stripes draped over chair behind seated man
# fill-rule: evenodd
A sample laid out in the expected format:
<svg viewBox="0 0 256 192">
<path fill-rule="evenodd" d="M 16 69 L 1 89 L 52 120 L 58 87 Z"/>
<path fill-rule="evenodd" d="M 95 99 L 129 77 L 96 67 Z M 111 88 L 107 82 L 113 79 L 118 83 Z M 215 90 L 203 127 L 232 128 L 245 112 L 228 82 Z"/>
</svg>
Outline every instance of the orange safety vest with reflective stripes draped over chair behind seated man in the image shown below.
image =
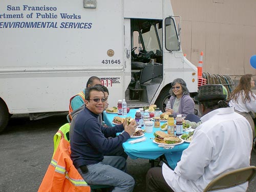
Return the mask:
<svg viewBox="0 0 256 192">
<path fill-rule="evenodd" d="M 70 158 L 70 143 L 61 139 L 38 192 L 90 192 Z"/>
</svg>

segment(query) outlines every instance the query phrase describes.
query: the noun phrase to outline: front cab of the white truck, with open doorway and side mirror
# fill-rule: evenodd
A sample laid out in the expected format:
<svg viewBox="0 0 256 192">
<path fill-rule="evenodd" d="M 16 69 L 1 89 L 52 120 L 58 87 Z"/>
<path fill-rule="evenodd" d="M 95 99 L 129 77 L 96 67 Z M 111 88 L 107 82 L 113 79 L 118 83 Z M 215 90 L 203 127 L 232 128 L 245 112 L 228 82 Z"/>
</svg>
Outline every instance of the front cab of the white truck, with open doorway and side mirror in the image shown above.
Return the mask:
<svg viewBox="0 0 256 192">
<path fill-rule="evenodd" d="M 131 18 L 130 24 L 131 82 L 125 90 L 127 105 L 143 107 L 155 103 L 164 111 L 170 83 L 176 78 L 184 79 L 190 91 L 196 92 L 197 68 L 182 55 L 175 17 Z"/>
</svg>

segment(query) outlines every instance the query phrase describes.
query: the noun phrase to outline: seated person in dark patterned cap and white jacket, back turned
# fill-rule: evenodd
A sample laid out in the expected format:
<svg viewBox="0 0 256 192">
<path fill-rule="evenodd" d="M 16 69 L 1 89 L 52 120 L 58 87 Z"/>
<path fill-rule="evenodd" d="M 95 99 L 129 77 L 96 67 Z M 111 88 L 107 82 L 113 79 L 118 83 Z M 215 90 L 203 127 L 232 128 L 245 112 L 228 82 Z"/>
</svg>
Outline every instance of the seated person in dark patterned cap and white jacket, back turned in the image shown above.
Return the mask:
<svg viewBox="0 0 256 192">
<path fill-rule="evenodd" d="M 202 124 L 195 130 L 175 170 L 165 163 L 146 175 L 147 191 L 203 191 L 220 174 L 250 165 L 252 131 L 249 122 L 225 101 L 223 85 L 199 87 Z M 219 191 L 245 192 L 248 183 Z"/>
</svg>

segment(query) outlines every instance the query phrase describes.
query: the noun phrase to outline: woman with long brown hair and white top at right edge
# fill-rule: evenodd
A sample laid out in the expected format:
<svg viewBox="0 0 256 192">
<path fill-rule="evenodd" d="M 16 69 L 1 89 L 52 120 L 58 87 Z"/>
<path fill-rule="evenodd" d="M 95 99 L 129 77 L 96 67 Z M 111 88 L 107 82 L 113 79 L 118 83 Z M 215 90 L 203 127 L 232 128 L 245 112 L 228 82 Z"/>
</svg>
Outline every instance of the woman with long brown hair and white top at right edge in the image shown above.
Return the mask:
<svg viewBox="0 0 256 192">
<path fill-rule="evenodd" d="M 255 125 L 251 115 L 255 118 L 256 95 L 252 92 L 251 88 L 254 86 L 255 83 L 252 75 L 243 75 L 229 98 L 229 106 L 233 106 L 234 111 L 243 115 L 250 123 L 253 138 L 255 137 Z"/>
</svg>

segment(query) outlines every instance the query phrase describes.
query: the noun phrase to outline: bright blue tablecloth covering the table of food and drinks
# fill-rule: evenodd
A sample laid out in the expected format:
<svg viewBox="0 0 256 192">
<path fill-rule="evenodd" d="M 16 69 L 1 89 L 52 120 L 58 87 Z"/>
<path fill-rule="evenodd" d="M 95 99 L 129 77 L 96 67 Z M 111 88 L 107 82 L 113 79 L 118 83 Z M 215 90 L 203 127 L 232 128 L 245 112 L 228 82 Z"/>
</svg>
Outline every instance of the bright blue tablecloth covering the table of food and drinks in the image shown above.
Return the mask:
<svg viewBox="0 0 256 192">
<path fill-rule="evenodd" d="M 135 117 L 136 109 L 131 109 L 130 112 L 126 116 Z M 115 126 L 112 123 L 114 116 L 118 116 L 117 114 L 111 114 L 103 112 L 104 122 L 108 126 Z M 125 117 L 120 115 L 120 117 Z M 162 124 L 162 123 L 161 123 Z M 143 129 L 143 128 L 142 128 Z M 165 155 L 168 164 L 174 169 L 177 162 L 180 160 L 182 151 L 185 150 L 189 143 L 183 142 L 180 145 L 176 145 L 173 149 L 165 149 L 163 147 L 158 147 L 156 143 L 153 142 L 154 132 L 161 131 L 160 128 L 153 128 L 152 133 L 145 133 L 146 140 L 143 142 L 138 142 L 134 144 L 130 144 L 128 141 L 135 139 L 130 138 L 126 142 L 123 143 L 124 151 L 132 158 L 143 158 L 143 159 L 156 159 L 161 155 Z"/>
</svg>

